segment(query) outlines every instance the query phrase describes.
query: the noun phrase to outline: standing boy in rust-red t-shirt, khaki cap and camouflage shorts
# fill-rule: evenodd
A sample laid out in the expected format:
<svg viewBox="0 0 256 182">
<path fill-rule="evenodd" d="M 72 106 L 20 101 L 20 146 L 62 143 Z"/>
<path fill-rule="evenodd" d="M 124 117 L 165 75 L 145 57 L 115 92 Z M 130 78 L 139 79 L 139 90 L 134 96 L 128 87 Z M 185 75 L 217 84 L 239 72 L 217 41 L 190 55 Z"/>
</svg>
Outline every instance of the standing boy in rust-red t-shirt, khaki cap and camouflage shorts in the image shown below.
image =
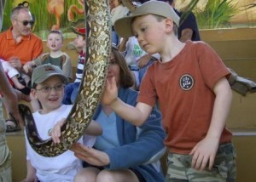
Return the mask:
<svg viewBox="0 0 256 182">
<path fill-rule="evenodd" d="M 177 39 L 179 17 L 164 2 L 143 3 L 115 22 L 120 37 L 136 36 L 148 54 L 160 54 L 143 78 L 136 107 L 117 98 L 114 78 L 102 102 L 140 126 L 159 100 L 167 137 L 166 181 L 235 181 L 236 152 L 225 128 L 232 92 L 218 55 L 202 42 Z"/>
</svg>

